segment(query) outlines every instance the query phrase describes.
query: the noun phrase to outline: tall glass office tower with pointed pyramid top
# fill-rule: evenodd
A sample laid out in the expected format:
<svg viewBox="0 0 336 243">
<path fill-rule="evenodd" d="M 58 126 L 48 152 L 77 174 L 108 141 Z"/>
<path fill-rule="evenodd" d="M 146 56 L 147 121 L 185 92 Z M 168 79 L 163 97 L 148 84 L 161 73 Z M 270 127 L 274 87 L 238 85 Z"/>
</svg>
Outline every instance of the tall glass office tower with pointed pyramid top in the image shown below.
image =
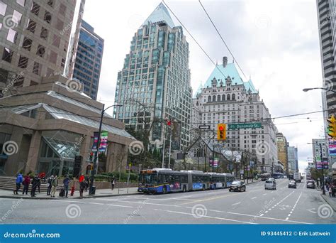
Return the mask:
<svg viewBox="0 0 336 243">
<path fill-rule="evenodd" d="M 133 129 L 150 129 L 150 141 L 162 147 L 170 136 L 172 149 L 189 145 L 191 86 L 189 44 L 161 3 L 133 36 L 123 69 L 118 72 L 115 116 Z M 169 143 L 166 145 L 168 146 Z M 167 148 L 166 146 L 166 148 Z"/>
</svg>

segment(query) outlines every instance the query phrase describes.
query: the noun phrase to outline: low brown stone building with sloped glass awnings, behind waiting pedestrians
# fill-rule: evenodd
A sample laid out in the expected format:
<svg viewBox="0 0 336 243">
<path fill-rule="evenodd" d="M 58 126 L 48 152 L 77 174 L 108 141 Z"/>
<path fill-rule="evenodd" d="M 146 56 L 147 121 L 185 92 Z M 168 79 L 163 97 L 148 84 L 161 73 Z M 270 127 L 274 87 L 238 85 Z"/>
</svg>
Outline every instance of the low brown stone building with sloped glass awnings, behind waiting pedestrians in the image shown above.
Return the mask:
<svg viewBox="0 0 336 243">
<path fill-rule="evenodd" d="M 16 95 L 0 99 L 2 175 L 18 171 L 47 175 L 87 172 L 103 104 L 86 96 L 80 83 L 72 86 L 78 87 L 74 90 L 67 80 L 60 75 L 43 77 L 39 85 L 18 87 Z M 124 171 L 133 137 L 121 121 L 107 114 L 102 131 L 108 131 L 108 145 L 98 171 Z M 79 163 L 76 156 L 81 156 Z"/>
</svg>

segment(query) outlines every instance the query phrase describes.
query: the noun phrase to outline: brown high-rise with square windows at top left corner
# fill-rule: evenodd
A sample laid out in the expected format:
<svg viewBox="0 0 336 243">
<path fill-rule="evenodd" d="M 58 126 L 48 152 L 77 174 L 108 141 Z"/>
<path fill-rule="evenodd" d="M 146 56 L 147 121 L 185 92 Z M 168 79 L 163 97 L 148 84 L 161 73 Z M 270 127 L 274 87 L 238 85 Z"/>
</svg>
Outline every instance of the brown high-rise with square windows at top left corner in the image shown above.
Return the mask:
<svg viewBox="0 0 336 243">
<path fill-rule="evenodd" d="M 0 1 L 0 90 L 72 77 L 84 0 Z"/>
</svg>

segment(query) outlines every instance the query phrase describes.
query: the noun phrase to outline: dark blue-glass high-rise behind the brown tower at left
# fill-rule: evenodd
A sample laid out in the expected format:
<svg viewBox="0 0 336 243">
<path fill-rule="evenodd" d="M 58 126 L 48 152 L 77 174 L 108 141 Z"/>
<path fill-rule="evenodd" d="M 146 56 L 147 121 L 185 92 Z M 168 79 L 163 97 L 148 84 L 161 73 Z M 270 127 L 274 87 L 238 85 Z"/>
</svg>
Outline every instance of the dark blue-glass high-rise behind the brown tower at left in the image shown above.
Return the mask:
<svg viewBox="0 0 336 243">
<path fill-rule="evenodd" d="M 84 93 L 92 99 L 97 98 L 103 43 L 103 38 L 94 33 L 94 28 L 82 21 L 73 77 L 82 82 Z"/>
</svg>

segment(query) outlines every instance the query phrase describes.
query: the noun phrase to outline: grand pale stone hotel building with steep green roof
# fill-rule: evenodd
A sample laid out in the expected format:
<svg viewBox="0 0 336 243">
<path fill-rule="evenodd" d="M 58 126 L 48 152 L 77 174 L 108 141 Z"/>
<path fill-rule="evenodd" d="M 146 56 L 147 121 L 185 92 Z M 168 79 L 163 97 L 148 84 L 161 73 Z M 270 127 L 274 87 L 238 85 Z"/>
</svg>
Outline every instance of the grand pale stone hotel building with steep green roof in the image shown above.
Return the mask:
<svg viewBox="0 0 336 243">
<path fill-rule="evenodd" d="M 276 126 L 271 121 L 269 109 L 259 97 L 252 80 L 244 82 L 234 63 L 217 65 L 200 87 L 193 99 L 192 121 L 194 130 L 200 124 L 209 125 L 217 132 L 217 124 L 260 122 L 261 128 L 236 129 L 227 132 L 221 144 L 228 151 L 242 151 L 255 155 L 260 172 L 271 172 L 278 159 L 276 149 Z M 197 135 L 193 135 L 196 137 Z M 218 143 L 220 144 L 220 143 Z"/>
</svg>

